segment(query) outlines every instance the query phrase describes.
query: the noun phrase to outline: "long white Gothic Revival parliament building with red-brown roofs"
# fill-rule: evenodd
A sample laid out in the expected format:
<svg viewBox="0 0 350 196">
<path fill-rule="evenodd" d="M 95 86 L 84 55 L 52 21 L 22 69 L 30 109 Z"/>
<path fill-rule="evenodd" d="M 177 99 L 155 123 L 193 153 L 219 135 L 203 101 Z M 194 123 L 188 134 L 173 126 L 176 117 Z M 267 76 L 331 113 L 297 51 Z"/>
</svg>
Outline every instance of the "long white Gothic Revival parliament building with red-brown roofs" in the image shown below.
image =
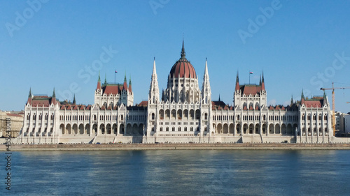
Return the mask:
<svg viewBox="0 0 350 196">
<path fill-rule="evenodd" d="M 150 65 L 151 68 L 151 65 Z M 148 100 L 134 105 L 131 80 L 109 84 L 97 80 L 94 104 L 59 101 L 29 91 L 18 144 L 59 143 L 328 143 L 332 141 L 328 98 L 290 100 L 267 105 L 262 73 L 259 84 L 232 86 L 233 105 L 211 99 L 207 60 L 202 88 L 195 68 L 181 57 L 170 69 L 167 89 L 160 92 L 153 62 Z"/>
</svg>

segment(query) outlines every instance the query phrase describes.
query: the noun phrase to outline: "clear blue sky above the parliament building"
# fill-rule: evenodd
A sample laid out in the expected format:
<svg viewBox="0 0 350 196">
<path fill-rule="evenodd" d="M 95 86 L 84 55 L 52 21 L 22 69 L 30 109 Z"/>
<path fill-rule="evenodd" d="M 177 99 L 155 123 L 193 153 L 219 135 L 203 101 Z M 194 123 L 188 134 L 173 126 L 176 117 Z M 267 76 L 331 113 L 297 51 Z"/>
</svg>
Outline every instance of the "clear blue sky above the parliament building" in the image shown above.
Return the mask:
<svg viewBox="0 0 350 196">
<path fill-rule="evenodd" d="M 350 86 L 349 10 L 350 1 L 0 1 L 0 109 L 23 110 L 30 87 L 72 100 L 73 85 L 77 103 L 92 104 L 98 72 L 85 68 L 103 47 L 113 51 L 102 81 L 114 82 L 115 69 L 117 82 L 131 75 L 134 103 L 147 100 L 153 56 L 165 89 L 183 33 L 200 86 L 208 58 L 213 100 L 232 105 L 237 70 L 241 83 L 264 71 L 269 104 L 300 100 L 302 89 L 322 95 L 332 82 Z M 350 112 L 350 89 L 335 96 L 336 110 Z"/>
</svg>

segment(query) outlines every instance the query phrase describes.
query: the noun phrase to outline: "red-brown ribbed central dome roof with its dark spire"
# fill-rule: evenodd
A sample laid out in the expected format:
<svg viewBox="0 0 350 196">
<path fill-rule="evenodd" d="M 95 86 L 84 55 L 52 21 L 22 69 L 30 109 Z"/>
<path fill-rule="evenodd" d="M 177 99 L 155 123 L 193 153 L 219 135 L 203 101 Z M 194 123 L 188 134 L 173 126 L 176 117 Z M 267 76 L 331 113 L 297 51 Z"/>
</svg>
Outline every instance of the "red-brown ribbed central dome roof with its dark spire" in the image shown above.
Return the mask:
<svg viewBox="0 0 350 196">
<path fill-rule="evenodd" d="M 195 68 L 193 68 L 190 61 L 186 59 L 185 47 L 182 41 L 181 58 L 176 61 L 172 70 L 170 70 L 171 78 L 187 77 L 187 78 L 197 78 Z"/>
</svg>

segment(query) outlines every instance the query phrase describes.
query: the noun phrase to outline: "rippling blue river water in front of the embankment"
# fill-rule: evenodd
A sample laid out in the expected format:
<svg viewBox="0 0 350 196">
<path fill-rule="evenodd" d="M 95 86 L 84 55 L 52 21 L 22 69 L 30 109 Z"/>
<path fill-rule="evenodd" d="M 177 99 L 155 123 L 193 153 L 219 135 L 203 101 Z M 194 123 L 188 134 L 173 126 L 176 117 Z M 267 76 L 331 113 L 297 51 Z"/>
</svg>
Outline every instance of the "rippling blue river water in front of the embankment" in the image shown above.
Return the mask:
<svg viewBox="0 0 350 196">
<path fill-rule="evenodd" d="M 349 195 L 349 160 L 350 151 L 13 152 L 10 192 L 14 195 Z M 6 193 L 4 186 L 1 193 Z"/>
</svg>

